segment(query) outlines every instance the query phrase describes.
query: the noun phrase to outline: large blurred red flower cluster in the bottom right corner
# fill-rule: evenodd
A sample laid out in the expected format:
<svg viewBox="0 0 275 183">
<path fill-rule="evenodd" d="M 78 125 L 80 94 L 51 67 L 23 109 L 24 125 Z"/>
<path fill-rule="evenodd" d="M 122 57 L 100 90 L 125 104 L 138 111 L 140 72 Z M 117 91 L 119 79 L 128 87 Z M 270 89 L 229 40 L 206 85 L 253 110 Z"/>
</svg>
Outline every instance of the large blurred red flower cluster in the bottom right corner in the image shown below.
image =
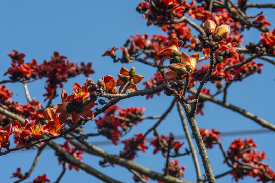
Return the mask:
<svg viewBox="0 0 275 183">
<path fill-rule="evenodd" d="M 235 139 L 229 146 L 227 158 L 233 165 L 240 167 L 231 173 L 236 182 L 244 176 L 251 176 L 257 178 L 257 181 L 262 182 L 275 179 L 275 172 L 272 168 L 262 162 L 264 159 L 268 160 L 268 158 L 265 157 L 265 152 L 260 153 L 260 151 L 256 151 L 254 147 L 257 147 L 257 145 L 252 139 L 242 141 L 241 138 Z"/>
</svg>

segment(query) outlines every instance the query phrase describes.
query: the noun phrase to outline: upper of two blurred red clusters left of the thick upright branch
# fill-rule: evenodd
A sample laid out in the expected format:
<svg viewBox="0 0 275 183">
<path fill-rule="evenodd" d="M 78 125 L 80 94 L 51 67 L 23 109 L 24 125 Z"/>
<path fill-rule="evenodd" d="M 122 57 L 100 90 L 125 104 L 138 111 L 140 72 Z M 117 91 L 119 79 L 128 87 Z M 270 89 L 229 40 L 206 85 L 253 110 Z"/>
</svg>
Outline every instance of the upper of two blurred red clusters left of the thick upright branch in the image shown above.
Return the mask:
<svg viewBox="0 0 275 183">
<path fill-rule="evenodd" d="M 150 144 L 155 147 L 154 154 L 158 151 L 162 151 L 162 155 L 166 157 L 166 152 L 170 150 L 170 153 L 174 153 L 175 155 L 179 154 L 179 148 L 184 144 L 179 141 L 174 141 L 174 135 L 170 133 L 169 137 L 165 135 L 161 135 L 161 137 L 155 137 Z M 174 149 L 174 152 L 172 151 Z"/>
</svg>

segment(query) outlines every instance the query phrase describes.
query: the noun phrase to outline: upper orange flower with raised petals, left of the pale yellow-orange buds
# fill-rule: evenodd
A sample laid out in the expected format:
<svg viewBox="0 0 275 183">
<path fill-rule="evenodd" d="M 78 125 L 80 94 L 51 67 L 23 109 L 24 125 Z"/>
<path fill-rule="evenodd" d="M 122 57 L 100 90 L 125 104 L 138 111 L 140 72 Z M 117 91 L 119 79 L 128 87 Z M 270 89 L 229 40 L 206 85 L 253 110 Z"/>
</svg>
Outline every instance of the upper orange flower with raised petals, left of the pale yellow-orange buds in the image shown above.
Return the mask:
<svg viewBox="0 0 275 183">
<path fill-rule="evenodd" d="M 172 38 L 168 43 L 168 48 L 158 52 L 158 55 L 166 55 L 159 60 L 159 66 L 161 66 L 166 58 L 172 56 L 173 54 L 180 55 L 179 49 L 183 45 L 183 41 L 178 41 L 177 38 Z"/>
</svg>

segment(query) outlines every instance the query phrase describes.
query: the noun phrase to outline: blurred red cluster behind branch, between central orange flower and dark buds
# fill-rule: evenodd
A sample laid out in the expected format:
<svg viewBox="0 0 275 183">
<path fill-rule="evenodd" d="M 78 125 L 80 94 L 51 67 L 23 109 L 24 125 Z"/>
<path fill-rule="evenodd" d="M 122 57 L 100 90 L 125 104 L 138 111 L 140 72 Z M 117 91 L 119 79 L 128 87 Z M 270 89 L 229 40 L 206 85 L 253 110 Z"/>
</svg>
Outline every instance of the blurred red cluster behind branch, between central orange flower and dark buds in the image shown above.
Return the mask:
<svg viewBox="0 0 275 183">
<path fill-rule="evenodd" d="M 153 88 L 153 87 L 157 87 L 157 86 L 160 86 L 161 84 L 164 84 L 165 81 L 163 79 L 163 77 L 161 76 L 161 73 L 160 72 L 157 72 L 154 74 L 154 77 L 150 77 L 150 80 L 149 81 L 145 81 L 142 83 L 142 85 L 145 86 L 145 89 L 150 89 L 150 88 Z M 158 92 L 157 95 L 159 96 L 161 92 Z M 149 94 L 146 96 L 146 99 L 149 99 L 149 98 L 153 98 L 153 94 Z"/>
</svg>

